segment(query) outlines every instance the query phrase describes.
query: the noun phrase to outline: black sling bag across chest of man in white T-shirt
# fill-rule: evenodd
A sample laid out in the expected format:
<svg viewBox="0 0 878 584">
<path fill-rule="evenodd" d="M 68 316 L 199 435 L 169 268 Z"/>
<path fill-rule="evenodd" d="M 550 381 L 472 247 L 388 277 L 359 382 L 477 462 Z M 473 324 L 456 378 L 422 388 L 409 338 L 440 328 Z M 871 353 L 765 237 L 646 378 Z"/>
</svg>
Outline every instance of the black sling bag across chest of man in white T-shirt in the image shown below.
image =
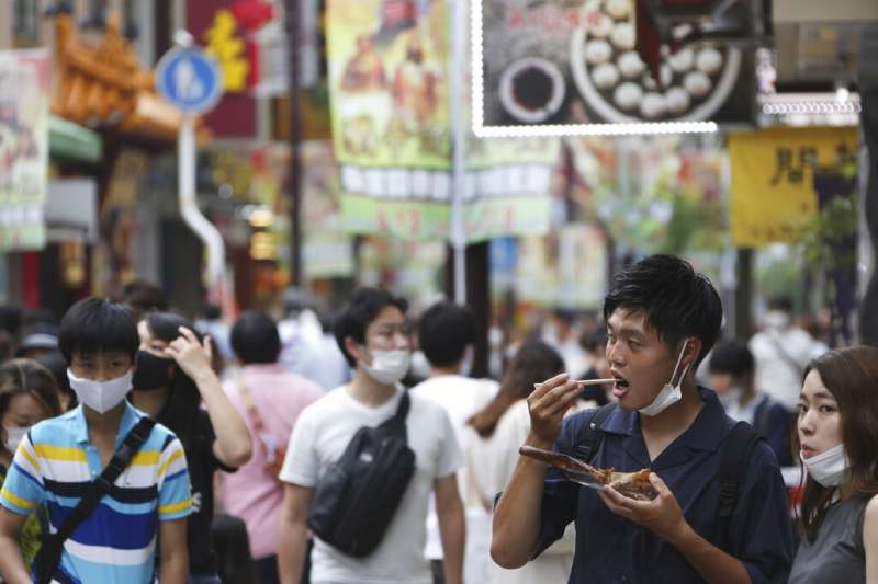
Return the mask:
<svg viewBox="0 0 878 584">
<path fill-rule="evenodd" d="M 409 403 L 403 392 L 393 417 L 358 430 L 317 481 L 307 526 L 347 556 L 363 558 L 378 548 L 415 473 L 405 427 Z"/>
</svg>

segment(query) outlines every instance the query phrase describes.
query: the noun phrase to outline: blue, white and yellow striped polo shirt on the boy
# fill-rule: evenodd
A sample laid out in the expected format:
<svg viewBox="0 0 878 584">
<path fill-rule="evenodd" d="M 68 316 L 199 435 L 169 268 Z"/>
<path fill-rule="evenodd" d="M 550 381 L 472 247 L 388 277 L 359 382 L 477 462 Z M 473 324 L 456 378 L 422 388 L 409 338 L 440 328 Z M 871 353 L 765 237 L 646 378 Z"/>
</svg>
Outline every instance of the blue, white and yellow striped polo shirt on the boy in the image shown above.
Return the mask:
<svg viewBox="0 0 878 584">
<path fill-rule="evenodd" d="M 115 449 L 143 415 L 125 402 Z M 79 405 L 31 428 L 15 451 L 0 505 L 30 515 L 45 504 L 54 533 L 102 470 Z M 157 520 L 185 517 L 191 505 L 183 447 L 156 424 L 110 493 L 65 541 L 53 582 L 153 582 Z"/>
</svg>

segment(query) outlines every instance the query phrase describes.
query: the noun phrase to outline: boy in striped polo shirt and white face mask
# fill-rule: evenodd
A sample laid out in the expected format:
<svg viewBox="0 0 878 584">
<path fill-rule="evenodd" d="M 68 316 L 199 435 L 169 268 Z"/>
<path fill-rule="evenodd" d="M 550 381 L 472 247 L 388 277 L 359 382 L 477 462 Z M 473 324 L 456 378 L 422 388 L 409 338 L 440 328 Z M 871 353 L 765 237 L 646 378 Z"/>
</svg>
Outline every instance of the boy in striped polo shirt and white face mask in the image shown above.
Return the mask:
<svg viewBox="0 0 878 584">
<path fill-rule="evenodd" d="M 56 531 L 144 416 L 125 396 L 139 345 L 134 314 L 88 298 L 61 321 L 58 344 L 80 405 L 35 425 L 21 442 L 0 491 L 0 573 L 30 583 L 18 534 L 37 505 Z M 189 574 L 185 517 L 191 513 L 183 448 L 156 424 L 94 512 L 64 542 L 53 582 L 183 584 Z M 156 539 L 160 568 L 156 573 Z"/>
</svg>

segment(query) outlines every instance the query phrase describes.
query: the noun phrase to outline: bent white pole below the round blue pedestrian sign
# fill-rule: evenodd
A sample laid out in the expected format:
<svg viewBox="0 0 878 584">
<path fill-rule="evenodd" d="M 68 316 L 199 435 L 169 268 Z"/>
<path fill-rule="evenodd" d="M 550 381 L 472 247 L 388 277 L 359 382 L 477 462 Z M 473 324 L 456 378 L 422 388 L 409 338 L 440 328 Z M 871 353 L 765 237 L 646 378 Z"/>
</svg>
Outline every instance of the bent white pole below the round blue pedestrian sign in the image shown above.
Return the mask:
<svg viewBox="0 0 878 584">
<path fill-rule="evenodd" d="M 219 231 L 201 214 L 195 201 L 195 121 L 191 114 L 183 114 L 180 123 L 177 162 L 180 216 L 204 242 L 207 250 L 207 289 L 215 294 L 215 287 L 223 282 L 225 244 Z"/>
</svg>

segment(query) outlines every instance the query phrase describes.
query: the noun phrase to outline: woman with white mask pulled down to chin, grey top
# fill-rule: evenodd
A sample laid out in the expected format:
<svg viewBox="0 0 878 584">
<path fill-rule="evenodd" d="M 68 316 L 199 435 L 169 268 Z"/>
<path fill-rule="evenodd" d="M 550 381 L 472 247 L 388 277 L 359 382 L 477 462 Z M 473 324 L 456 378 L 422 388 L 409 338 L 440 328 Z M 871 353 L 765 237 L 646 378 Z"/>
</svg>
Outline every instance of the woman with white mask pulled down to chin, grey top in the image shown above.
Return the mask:
<svg viewBox="0 0 878 584">
<path fill-rule="evenodd" d="M 789 582 L 878 583 L 878 348 L 806 368 L 797 438 L 807 474 Z"/>
</svg>

